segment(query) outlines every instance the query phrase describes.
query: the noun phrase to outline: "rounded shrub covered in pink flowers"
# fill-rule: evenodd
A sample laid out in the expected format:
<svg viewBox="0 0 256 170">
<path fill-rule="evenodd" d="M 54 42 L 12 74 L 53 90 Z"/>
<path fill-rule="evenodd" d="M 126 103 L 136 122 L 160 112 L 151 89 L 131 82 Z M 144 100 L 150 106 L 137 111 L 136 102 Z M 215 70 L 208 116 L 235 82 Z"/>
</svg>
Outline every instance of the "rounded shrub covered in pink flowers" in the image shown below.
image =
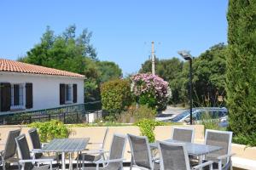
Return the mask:
<svg viewBox="0 0 256 170">
<path fill-rule="evenodd" d="M 172 96 L 168 82 L 152 74 L 137 74 L 131 77 L 131 92 L 141 105 L 148 105 L 158 111 L 166 108 Z"/>
</svg>

